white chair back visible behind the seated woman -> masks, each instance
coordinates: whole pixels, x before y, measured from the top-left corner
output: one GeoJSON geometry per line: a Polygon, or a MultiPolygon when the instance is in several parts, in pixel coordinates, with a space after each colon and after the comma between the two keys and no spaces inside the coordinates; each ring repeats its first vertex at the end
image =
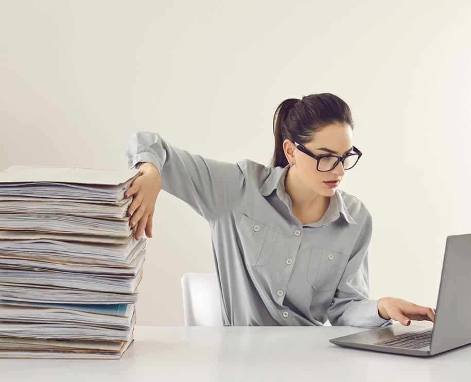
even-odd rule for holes
{"type": "Polygon", "coordinates": [[[182,294],[185,326],[223,326],[216,273],[185,273],[182,294]]]}

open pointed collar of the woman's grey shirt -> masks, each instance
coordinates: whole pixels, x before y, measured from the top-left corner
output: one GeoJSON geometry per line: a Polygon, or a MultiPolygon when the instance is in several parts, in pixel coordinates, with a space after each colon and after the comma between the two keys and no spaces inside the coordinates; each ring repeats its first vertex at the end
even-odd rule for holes
{"type": "MultiPolygon", "coordinates": [[[[285,190],[285,177],[286,177],[286,173],[288,172],[288,168],[289,168],[289,165],[286,165],[285,167],[281,167],[281,166],[272,167],[270,169],[271,171],[268,177],[265,179],[263,184],[259,187],[259,191],[262,195],[268,196],[273,192],[273,190],[276,189],[276,193],[278,197],[280,197],[280,199],[282,200],[284,199],[285,203],[291,206],[291,200],[285,190]]],[[[340,214],[348,223],[358,225],[357,222],[353,219],[352,215],[350,215],[350,212],[348,212],[348,209],[345,205],[345,202],[339,190],[336,189],[334,196],[330,200],[330,205],[324,217],[318,222],[315,222],[312,224],[305,224],[305,225],[312,225],[313,227],[318,227],[319,225],[323,225],[326,223],[324,221],[324,218],[330,221],[334,221],[340,217],[340,214]]]]}

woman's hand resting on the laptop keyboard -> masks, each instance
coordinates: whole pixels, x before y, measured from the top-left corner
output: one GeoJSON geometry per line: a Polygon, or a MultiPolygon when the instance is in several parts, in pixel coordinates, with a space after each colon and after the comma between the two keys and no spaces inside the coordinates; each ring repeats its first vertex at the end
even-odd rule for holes
{"type": "Polygon", "coordinates": [[[378,314],[385,320],[393,319],[405,326],[410,325],[410,320],[435,321],[437,309],[414,304],[395,297],[382,297],[378,302],[378,314]]]}

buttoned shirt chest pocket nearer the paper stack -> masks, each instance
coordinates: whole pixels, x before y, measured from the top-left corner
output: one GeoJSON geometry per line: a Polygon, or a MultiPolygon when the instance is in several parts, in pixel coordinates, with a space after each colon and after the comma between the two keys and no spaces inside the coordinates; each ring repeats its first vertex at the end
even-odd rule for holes
{"type": "Polygon", "coordinates": [[[245,214],[237,223],[242,251],[252,266],[268,264],[275,250],[278,231],[245,214]]]}

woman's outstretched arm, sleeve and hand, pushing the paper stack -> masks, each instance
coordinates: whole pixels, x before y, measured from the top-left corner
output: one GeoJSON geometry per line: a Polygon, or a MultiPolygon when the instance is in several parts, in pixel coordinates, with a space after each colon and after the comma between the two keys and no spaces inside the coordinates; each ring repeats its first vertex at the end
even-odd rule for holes
{"type": "Polygon", "coordinates": [[[151,237],[154,204],[161,188],[189,204],[210,222],[232,209],[242,198],[246,160],[228,163],[204,158],[172,146],[160,134],[150,131],[132,133],[126,155],[128,168],[139,168],[143,173],[127,190],[128,196],[134,195],[128,215],[137,214],[131,217],[130,223],[139,221],[136,237],[142,234],[144,227],[146,235],[151,237]]]}

